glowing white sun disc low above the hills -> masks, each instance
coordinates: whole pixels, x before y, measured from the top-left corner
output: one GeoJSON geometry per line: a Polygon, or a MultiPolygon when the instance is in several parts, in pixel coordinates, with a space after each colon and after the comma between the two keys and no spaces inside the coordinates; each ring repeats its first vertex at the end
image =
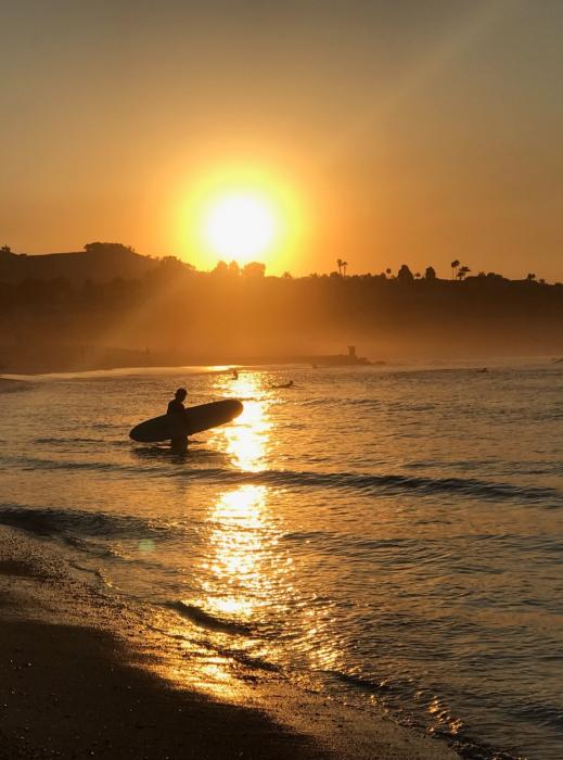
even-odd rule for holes
{"type": "Polygon", "coordinates": [[[225,194],[210,202],[203,237],[219,256],[249,262],[276,242],[279,219],[266,197],[249,192],[225,194]]]}

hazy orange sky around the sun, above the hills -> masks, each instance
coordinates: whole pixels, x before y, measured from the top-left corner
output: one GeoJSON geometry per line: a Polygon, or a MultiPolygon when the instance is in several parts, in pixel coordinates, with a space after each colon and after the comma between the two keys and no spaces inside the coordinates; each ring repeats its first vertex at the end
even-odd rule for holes
{"type": "Polygon", "coordinates": [[[561,281],[562,35],[561,0],[5,3],[0,245],[207,269],[205,193],[252,186],[270,274],[561,281]]]}

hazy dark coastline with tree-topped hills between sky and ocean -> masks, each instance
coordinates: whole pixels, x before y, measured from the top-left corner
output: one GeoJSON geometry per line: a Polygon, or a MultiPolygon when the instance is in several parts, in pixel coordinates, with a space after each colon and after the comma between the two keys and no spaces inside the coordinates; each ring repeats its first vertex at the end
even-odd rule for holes
{"type": "MultiPolygon", "coordinates": [[[[346,265],[346,266],[345,266],[346,265]]],[[[394,275],[266,276],[253,262],[197,271],[118,243],[27,256],[0,249],[4,372],[182,364],[357,366],[358,342],[382,362],[563,353],[563,284],[509,280],[451,263],[440,279],[394,275]],[[123,347],[121,347],[123,346],[123,347]]],[[[485,364],[485,362],[483,363],[485,364]]]]}

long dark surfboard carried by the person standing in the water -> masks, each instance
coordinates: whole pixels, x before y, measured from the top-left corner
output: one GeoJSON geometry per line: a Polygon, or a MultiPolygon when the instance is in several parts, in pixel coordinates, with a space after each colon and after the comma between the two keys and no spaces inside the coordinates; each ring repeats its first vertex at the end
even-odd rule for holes
{"type": "Polygon", "coordinates": [[[231,422],[243,410],[240,401],[227,398],[212,404],[190,406],[185,409],[185,420],[175,415],[161,415],[136,425],[129,438],[138,443],[158,443],[177,435],[194,435],[219,425],[231,422]]]}

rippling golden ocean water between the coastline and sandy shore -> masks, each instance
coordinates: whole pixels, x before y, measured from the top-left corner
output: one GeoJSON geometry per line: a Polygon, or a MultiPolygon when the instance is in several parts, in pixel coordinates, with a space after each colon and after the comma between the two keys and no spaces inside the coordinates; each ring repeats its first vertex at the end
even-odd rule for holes
{"type": "Polygon", "coordinates": [[[563,365],[91,372],[0,394],[0,522],[229,662],[445,736],[563,757],[563,365]],[[271,385],[292,378],[293,389],[271,385]],[[128,440],[244,403],[185,457],[128,440]]]}

